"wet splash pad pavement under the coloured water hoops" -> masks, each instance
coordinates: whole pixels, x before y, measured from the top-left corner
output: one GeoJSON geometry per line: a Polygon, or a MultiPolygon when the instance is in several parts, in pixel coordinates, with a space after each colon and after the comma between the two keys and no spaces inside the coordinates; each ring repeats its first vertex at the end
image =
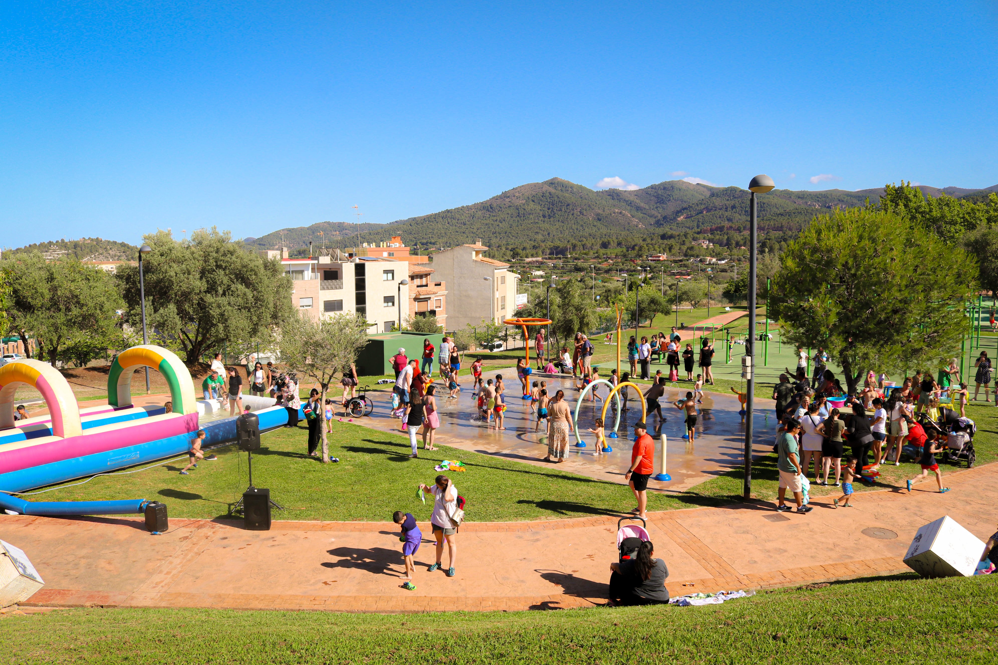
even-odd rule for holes
{"type": "MultiPolygon", "coordinates": [[[[506,430],[496,431],[478,419],[476,398],[471,394],[469,378],[464,382],[464,390],[456,399],[448,399],[449,391],[443,390],[442,386],[437,388],[440,428],[434,435],[434,441],[476,453],[550,466],[551,463],[542,462],[547,455],[547,446],[540,443],[541,437],[544,436],[544,425],[541,424],[540,431],[535,431],[537,416],[531,412],[530,401],[521,399],[520,383],[516,380],[515,372],[499,371],[498,374],[504,376],[506,384],[504,395],[506,430]],[[512,381],[509,381],[510,378],[512,381]]],[[[495,374],[485,376],[495,378],[495,374]]],[[[575,387],[576,381],[571,378],[558,379],[538,375],[534,375],[534,379],[547,381],[549,394],[564,390],[565,399],[571,405],[573,413],[576,413],[579,399],[579,391],[575,387]]],[[[566,461],[560,465],[561,468],[599,480],[625,483],[624,473],[631,464],[634,438],[631,426],[641,419],[641,403],[636,399],[636,391],[628,390],[631,394],[627,405],[628,411],[621,415],[617,430],[620,438],[608,439],[613,452],[600,454],[596,450],[596,436],[588,430],[599,417],[603,403],[600,400],[594,403],[587,395],[577,414],[582,441],[586,447],[575,446],[576,442],[572,439],[573,445],[570,446],[566,461]],[[625,433],[631,441],[625,440],[625,433]]],[[[745,426],[739,415],[741,404],[734,394],[706,393],[703,404],[698,405],[700,417],[694,443],[691,444],[683,439],[683,435],[686,434],[685,416],[673,403],[692,390],[693,384],[678,383],[668,386],[665,397],[659,400],[665,422],[660,425],[656,416],[649,417],[649,434],[656,438],[656,473],[660,471],[662,455],[660,437],[665,435],[666,471],[672,477],[671,482],[652,481],[649,483],[650,488],[673,492],[686,490],[743,464],[745,426]]],[[[609,388],[601,385],[597,393],[599,397],[605,399],[609,388]]],[[[387,390],[380,393],[371,392],[368,393],[368,397],[374,403],[374,412],[370,418],[355,419],[354,422],[401,434],[399,421],[390,417],[391,393],[387,390]]],[[[753,436],[752,452],[758,456],[771,452],[775,416],[771,401],[756,399],[755,402],[756,406],[761,408],[754,409],[755,436],[753,436]]],[[[611,408],[607,411],[609,427],[614,423],[614,406],[612,402],[611,408]]],[[[421,449],[421,438],[419,441],[421,449]]]]}

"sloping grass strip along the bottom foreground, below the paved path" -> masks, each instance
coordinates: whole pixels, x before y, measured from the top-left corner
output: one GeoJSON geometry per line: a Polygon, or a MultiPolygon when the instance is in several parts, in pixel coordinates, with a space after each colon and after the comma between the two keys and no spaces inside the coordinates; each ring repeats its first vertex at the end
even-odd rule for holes
{"type": "Polygon", "coordinates": [[[0,663],[994,663],[998,575],[898,575],[705,607],[408,615],[69,609],[0,663]]]}

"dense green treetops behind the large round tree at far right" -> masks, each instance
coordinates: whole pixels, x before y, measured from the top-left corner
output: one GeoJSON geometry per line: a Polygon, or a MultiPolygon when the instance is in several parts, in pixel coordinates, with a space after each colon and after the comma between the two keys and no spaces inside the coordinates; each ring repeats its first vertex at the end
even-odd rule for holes
{"type": "Polygon", "coordinates": [[[998,195],[995,193],[988,196],[987,202],[978,203],[947,194],[925,195],[904,180],[901,184],[884,185],[880,200],[869,207],[904,217],[946,244],[959,242],[967,231],[998,223],[998,195]]]}

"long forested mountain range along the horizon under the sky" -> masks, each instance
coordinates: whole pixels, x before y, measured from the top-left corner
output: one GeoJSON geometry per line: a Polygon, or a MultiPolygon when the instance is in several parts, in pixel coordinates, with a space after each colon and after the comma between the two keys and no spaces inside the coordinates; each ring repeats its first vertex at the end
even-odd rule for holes
{"type": "MultiPolygon", "coordinates": [[[[923,193],[962,197],[998,191],[918,185],[923,193]]],[[[760,233],[792,235],[815,213],[875,202],[883,187],[846,191],[773,189],[758,197],[760,233]]],[[[692,233],[742,234],[749,224],[749,191],[685,180],[667,180],[633,190],[594,190],[559,177],[530,182],[487,200],[387,224],[319,222],[283,228],[245,242],[260,248],[352,247],[391,235],[421,248],[449,247],[475,238],[494,248],[534,254],[572,249],[630,246],[646,239],[692,233]],[[321,232],[321,235],[319,234],[321,232]],[[358,240],[359,234],[359,240],[358,240]]]]}

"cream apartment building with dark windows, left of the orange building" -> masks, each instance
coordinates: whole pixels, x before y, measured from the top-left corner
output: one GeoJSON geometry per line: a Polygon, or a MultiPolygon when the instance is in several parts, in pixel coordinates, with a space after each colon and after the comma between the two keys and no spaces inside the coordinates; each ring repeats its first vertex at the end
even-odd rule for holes
{"type": "Polygon", "coordinates": [[[280,259],[284,273],[293,282],[292,304],[302,316],[315,321],[341,312],[356,312],[367,319],[369,333],[391,332],[398,328],[399,311],[404,322],[406,315],[420,306],[415,300],[418,289],[412,288],[411,280],[401,284],[413,265],[404,259],[347,258],[341,253],[289,258],[286,250],[263,250],[260,254],[280,259]]]}

